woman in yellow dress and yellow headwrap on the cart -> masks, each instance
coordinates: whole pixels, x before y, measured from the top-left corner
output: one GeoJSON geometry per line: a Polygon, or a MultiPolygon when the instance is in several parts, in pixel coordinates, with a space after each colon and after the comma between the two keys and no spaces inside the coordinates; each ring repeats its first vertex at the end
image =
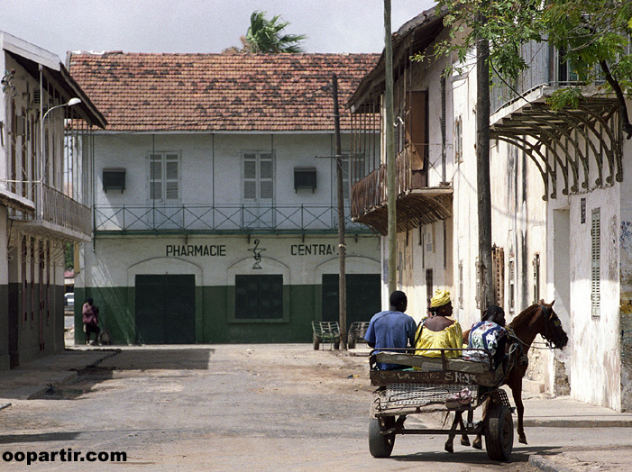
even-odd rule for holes
{"type": "MultiPolygon", "coordinates": [[[[463,331],[459,322],[450,320],[453,306],[450,292],[437,289],[430,300],[431,316],[422,320],[417,328],[415,347],[417,349],[460,349],[463,347],[463,331]]],[[[440,350],[417,350],[418,356],[440,358],[440,350]]],[[[458,358],[460,350],[446,350],[446,358],[458,358]]]]}

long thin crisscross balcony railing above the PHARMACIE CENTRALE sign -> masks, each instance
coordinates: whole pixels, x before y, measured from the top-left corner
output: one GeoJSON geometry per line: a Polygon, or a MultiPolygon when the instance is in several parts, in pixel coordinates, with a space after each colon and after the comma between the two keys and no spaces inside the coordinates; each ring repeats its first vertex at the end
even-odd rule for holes
{"type": "MultiPolygon", "coordinates": [[[[369,231],[352,222],[347,207],[345,230],[369,231]]],[[[95,231],[320,232],[337,231],[332,205],[96,205],[95,231]]]]}

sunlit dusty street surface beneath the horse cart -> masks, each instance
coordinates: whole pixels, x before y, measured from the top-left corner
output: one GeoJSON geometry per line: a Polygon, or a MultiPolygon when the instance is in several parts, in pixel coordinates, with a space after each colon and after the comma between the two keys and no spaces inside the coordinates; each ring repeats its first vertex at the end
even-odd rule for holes
{"type": "MultiPolygon", "coordinates": [[[[366,358],[307,344],[86,349],[67,351],[60,360],[80,368],[79,375],[48,394],[32,390],[40,399],[24,399],[33,394],[19,371],[3,384],[0,404],[11,405],[0,410],[0,452],[124,451],[127,462],[58,457],[27,466],[24,459],[3,463],[3,470],[632,470],[632,429],[569,428],[544,418],[559,419],[569,402],[537,398],[527,402],[529,445],[516,441],[510,464],[491,462],[458,440],[448,454],[444,436],[398,436],[391,458],[371,458],[366,358]],[[547,421],[551,426],[538,426],[547,421]]],[[[30,377],[45,376],[41,369],[30,377]]],[[[600,417],[608,412],[599,410],[600,417]]],[[[582,413],[594,426],[591,414],[582,413]]],[[[601,426],[618,418],[612,412],[601,426]]],[[[434,426],[437,418],[422,420],[411,418],[409,426],[434,426]]]]}

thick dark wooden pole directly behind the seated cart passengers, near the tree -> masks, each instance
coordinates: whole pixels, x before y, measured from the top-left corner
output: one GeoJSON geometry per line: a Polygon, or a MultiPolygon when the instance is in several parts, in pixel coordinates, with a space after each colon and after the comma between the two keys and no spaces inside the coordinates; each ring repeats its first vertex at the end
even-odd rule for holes
{"type": "MultiPolygon", "coordinates": [[[[485,18],[479,14],[479,22],[485,18]]],[[[476,191],[479,195],[479,274],[481,313],[493,303],[491,272],[491,190],[490,190],[490,43],[476,41],[476,191]]]]}

